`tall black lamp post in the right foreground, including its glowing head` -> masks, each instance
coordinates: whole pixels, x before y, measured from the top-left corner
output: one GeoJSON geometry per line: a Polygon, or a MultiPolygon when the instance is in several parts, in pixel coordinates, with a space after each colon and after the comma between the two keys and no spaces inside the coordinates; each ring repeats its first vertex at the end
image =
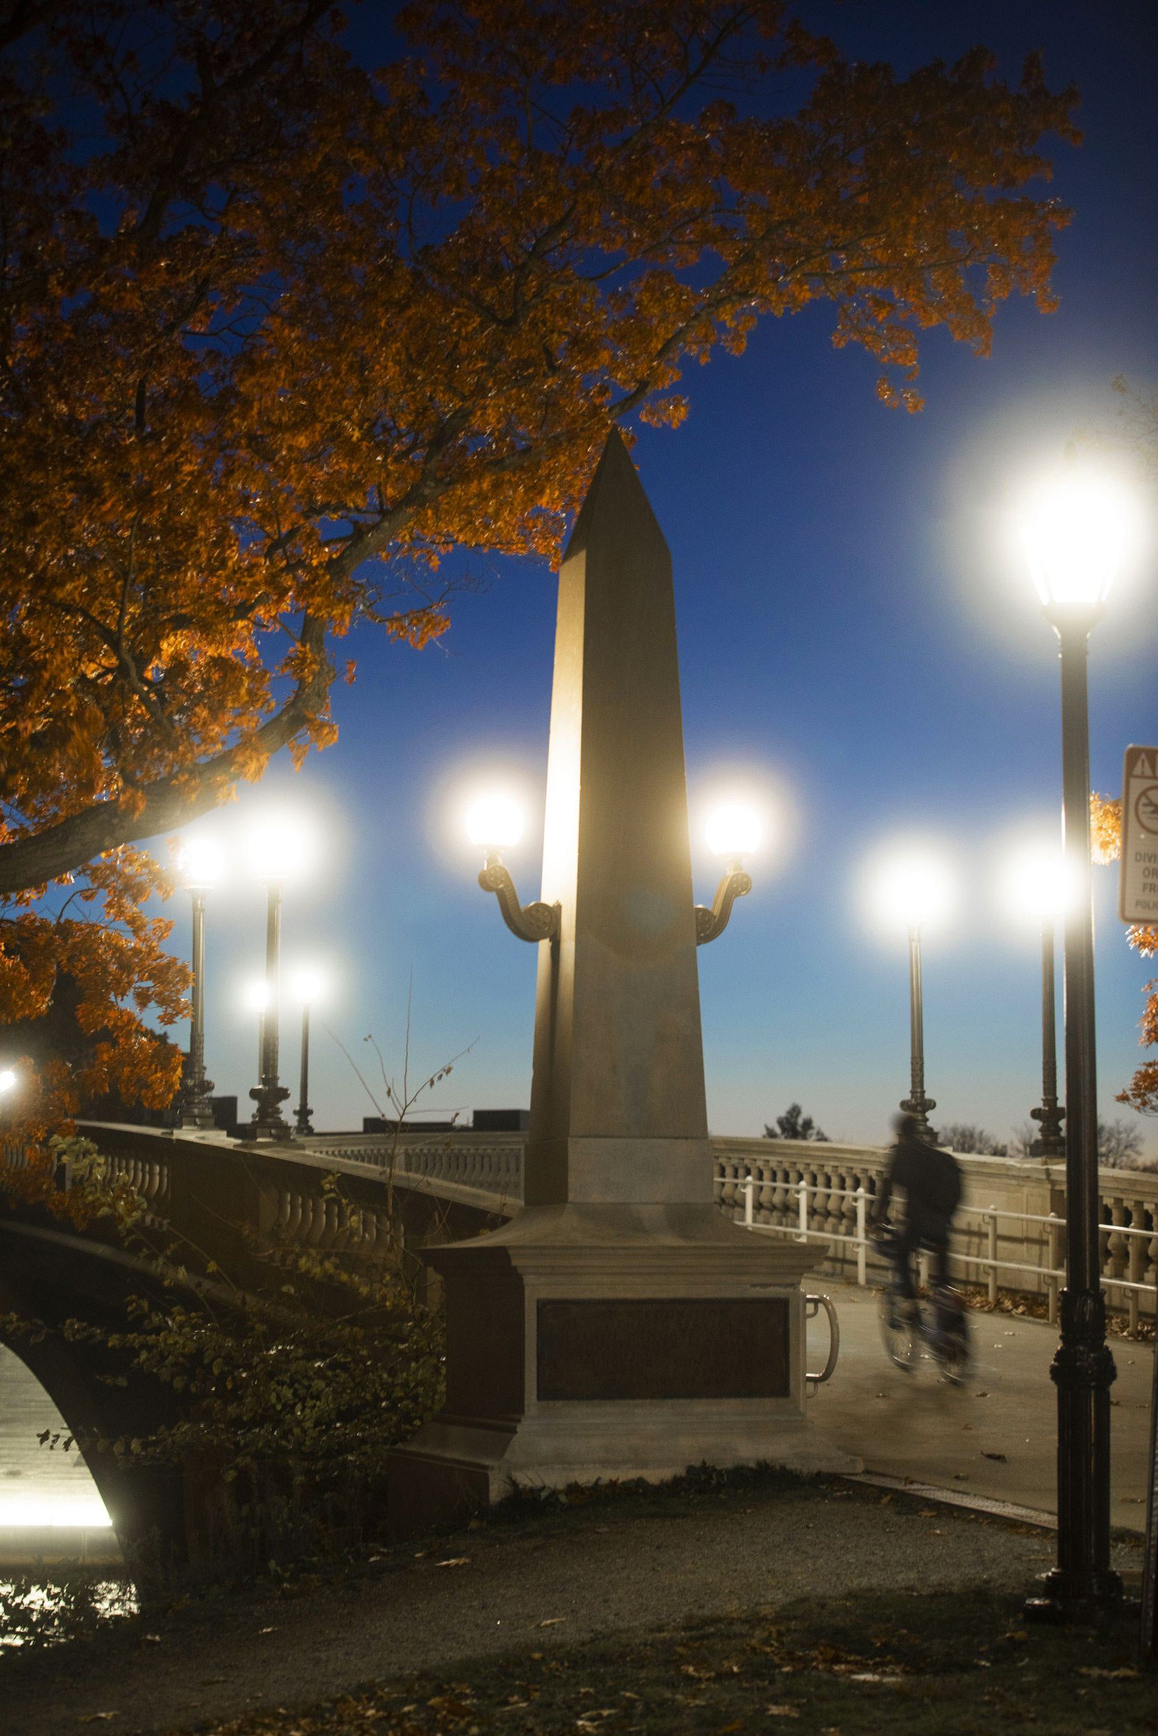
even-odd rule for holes
{"type": "Polygon", "coordinates": [[[1066,878],[1066,1288],[1057,1387],[1057,1566],[1036,1614],[1092,1618],[1122,1601],[1109,1568],[1109,1387],[1099,1266],[1097,1055],[1090,885],[1090,736],[1087,644],[1122,552],[1113,502],[1073,467],[1035,502],[1023,526],[1033,583],[1061,641],[1061,769],[1066,878]]]}

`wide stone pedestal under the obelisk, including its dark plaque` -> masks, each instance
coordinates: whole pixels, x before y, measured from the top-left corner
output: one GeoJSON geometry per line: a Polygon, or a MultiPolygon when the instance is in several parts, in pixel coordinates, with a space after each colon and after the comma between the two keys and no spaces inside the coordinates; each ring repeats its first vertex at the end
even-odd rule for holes
{"type": "Polygon", "coordinates": [[[424,1259],[446,1286],[446,1410],[389,1457],[399,1535],[516,1488],[705,1460],[863,1469],[806,1415],[816,1248],[712,1205],[557,1205],[424,1259]]]}

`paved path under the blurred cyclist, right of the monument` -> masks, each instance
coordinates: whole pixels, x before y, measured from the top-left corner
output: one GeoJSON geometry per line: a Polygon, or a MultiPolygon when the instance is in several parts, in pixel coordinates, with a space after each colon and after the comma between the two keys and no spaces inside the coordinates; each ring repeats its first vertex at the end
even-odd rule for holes
{"type": "MultiPolygon", "coordinates": [[[[964,1387],[951,1387],[929,1356],[911,1375],[894,1368],[880,1342],[875,1292],[821,1274],[804,1285],[830,1295],[840,1319],[840,1361],[809,1401],[809,1415],[830,1441],[859,1453],[865,1470],[1057,1510],[1057,1389],[1049,1377],[1056,1326],[970,1311],[972,1373],[964,1387]]],[[[809,1368],[823,1368],[826,1349],[821,1312],[809,1323],[809,1368]]],[[[1130,1338],[1111,1338],[1111,1349],[1118,1364],[1109,1413],[1111,1517],[1142,1529],[1155,1352],[1130,1338]]]]}

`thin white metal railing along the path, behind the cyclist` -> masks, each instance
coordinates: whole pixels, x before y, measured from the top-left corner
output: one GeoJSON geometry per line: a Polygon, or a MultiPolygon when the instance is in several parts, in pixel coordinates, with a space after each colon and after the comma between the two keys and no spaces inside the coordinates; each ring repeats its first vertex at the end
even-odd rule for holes
{"type": "MultiPolygon", "coordinates": [[[[759,1231],[766,1236],[788,1236],[792,1241],[816,1241],[816,1243],[839,1243],[845,1248],[856,1250],[856,1281],[865,1286],[868,1281],[868,1200],[870,1194],[861,1184],[858,1187],[833,1187],[826,1182],[807,1182],[804,1177],[799,1182],[790,1182],[788,1191],[795,1196],[795,1222],[793,1224],[757,1224],[755,1222],[755,1191],[760,1186],[760,1179],[748,1174],[733,1179],[736,1194],[743,1196],[743,1224],[747,1229],[759,1231]],[[818,1196],[823,1196],[828,1207],[833,1200],[851,1200],[852,1210],[856,1213],[856,1229],[851,1233],[832,1231],[832,1229],[813,1229],[809,1227],[809,1200],[816,1203],[818,1196]]],[[[964,1205],[958,1207],[958,1213],[964,1217],[976,1217],[984,1227],[984,1253],[962,1252],[953,1248],[950,1240],[950,1269],[957,1264],[958,1267],[979,1267],[988,1274],[988,1292],[990,1302],[997,1300],[998,1290],[998,1272],[1024,1272],[1031,1274],[1035,1279],[1045,1279],[1049,1293],[1049,1318],[1057,1318],[1057,1290],[1066,1279],[1064,1266],[1059,1264],[1061,1250],[1064,1248],[1066,1220],[1056,1212],[1042,1215],[1038,1212],[1007,1212],[998,1207],[976,1207],[964,1205]],[[1024,1260],[1009,1260],[1000,1257],[998,1250],[998,1220],[1009,1219],[1017,1224],[1038,1224],[1043,1227],[1049,1246],[1049,1266],[1035,1266],[1024,1260]]],[[[960,1231],[957,1233],[960,1236],[960,1231]]],[[[1155,1262],[1158,1253],[1158,1226],[1155,1229],[1144,1229],[1132,1224],[1122,1222],[1102,1222],[1099,1226],[1099,1243],[1102,1264],[1109,1253],[1111,1243],[1120,1238],[1115,1255],[1122,1255],[1125,1243],[1127,1269],[1128,1278],[1118,1276],[1113,1271],[1104,1271],[1101,1281],[1108,1290],[1125,1292],[1125,1300],[1130,1314],[1130,1332],[1137,1332],[1139,1325],[1139,1300],[1142,1295],[1151,1295],[1158,1283],[1158,1264],[1155,1264],[1155,1276],[1146,1276],[1148,1264],[1155,1262]]],[[[1028,1236],[1017,1238],[1023,1243],[1028,1236]]],[[[920,1253],[922,1278],[929,1279],[929,1255],[920,1253]]],[[[965,1271],[965,1276],[969,1272],[965,1271]]]]}

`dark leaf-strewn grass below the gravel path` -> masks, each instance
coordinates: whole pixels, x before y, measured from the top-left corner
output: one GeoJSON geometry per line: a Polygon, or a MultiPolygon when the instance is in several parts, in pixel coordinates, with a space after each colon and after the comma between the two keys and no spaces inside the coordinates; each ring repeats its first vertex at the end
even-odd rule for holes
{"type": "Polygon", "coordinates": [[[1014,1597],[863,1594],[519,1651],[410,1675],[319,1706],[252,1712],[205,1736],[1050,1736],[1158,1729],[1137,1618],[1099,1630],[1026,1625],[1014,1597]]]}

